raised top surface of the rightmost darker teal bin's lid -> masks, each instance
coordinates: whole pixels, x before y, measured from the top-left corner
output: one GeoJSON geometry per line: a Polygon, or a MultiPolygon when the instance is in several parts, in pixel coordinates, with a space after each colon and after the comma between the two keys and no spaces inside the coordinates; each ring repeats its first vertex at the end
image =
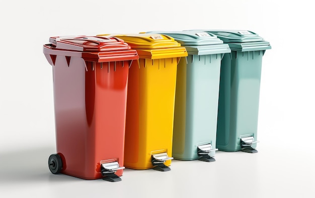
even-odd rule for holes
{"type": "Polygon", "coordinates": [[[264,39],[255,32],[248,30],[203,30],[207,33],[216,35],[224,43],[245,43],[245,42],[259,42],[264,39]]]}

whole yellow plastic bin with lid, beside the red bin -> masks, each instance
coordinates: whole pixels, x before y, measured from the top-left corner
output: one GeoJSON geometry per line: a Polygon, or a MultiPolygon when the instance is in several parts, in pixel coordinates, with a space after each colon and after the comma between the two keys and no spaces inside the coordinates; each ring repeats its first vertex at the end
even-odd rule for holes
{"type": "Polygon", "coordinates": [[[186,48],[161,34],[111,36],[139,55],[129,69],[124,166],[171,170],[177,64],[186,48]]]}

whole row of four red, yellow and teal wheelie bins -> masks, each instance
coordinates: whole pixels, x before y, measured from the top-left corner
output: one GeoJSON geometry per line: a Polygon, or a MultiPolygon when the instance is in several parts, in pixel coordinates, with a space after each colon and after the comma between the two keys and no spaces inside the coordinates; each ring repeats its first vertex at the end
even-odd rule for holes
{"type": "Polygon", "coordinates": [[[256,152],[262,56],[250,31],[51,37],[57,153],[49,169],[119,181],[125,167],[170,170],[256,152]]]}

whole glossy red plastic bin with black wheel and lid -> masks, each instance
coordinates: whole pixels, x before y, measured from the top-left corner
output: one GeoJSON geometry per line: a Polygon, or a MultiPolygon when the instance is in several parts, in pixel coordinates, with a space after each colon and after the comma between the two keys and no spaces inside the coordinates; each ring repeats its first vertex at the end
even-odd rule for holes
{"type": "Polygon", "coordinates": [[[57,154],[52,173],[120,181],[128,67],[136,50],[115,37],[50,37],[57,154]]]}

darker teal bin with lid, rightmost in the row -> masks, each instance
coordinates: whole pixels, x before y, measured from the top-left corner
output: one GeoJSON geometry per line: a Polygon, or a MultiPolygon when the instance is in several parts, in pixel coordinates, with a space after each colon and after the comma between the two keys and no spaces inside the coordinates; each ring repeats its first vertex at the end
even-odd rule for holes
{"type": "Polygon", "coordinates": [[[231,49],[221,62],[216,146],[221,151],[256,153],[262,58],[270,43],[240,30],[203,30],[231,49]]]}

